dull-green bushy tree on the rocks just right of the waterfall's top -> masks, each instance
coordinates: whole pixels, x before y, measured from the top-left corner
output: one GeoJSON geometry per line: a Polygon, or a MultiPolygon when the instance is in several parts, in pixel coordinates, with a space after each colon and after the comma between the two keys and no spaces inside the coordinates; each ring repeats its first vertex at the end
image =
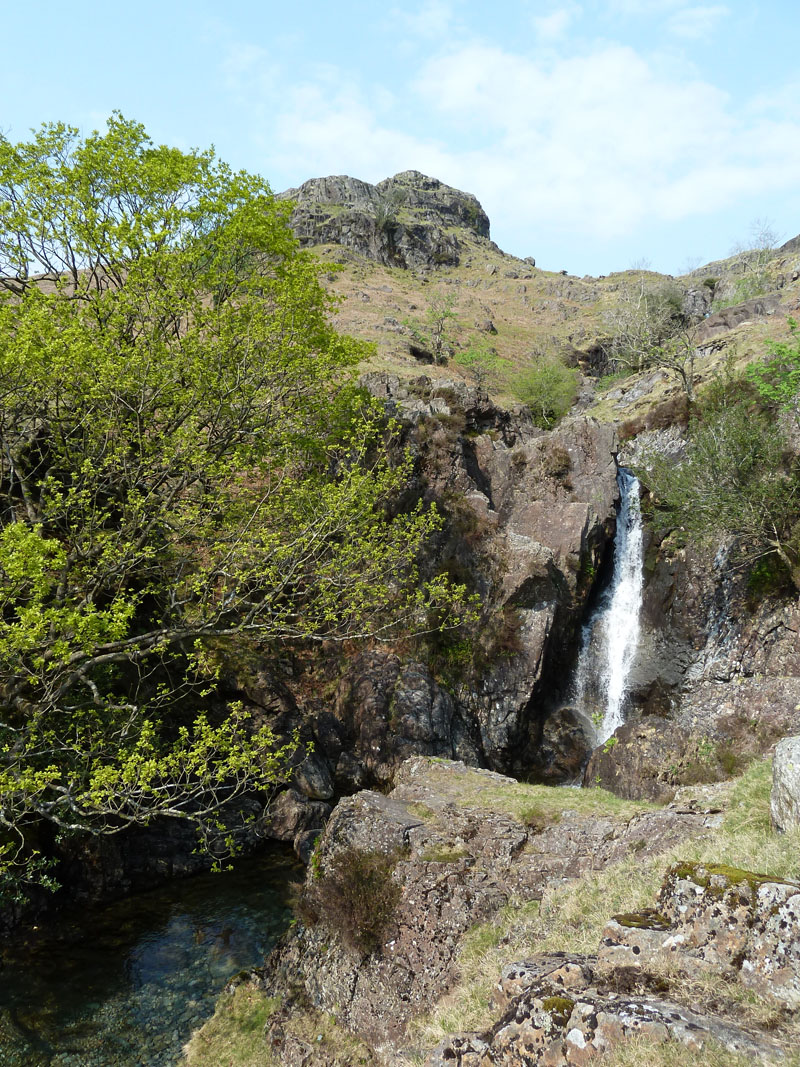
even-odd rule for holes
{"type": "Polygon", "coordinates": [[[654,456],[641,476],[662,526],[700,542],[736,539],[750,564],[777,556],[800,588],[800,469],[781,426],[757,401],[746,380],[718,381],[698,407],[684,462],[654,456]]]}

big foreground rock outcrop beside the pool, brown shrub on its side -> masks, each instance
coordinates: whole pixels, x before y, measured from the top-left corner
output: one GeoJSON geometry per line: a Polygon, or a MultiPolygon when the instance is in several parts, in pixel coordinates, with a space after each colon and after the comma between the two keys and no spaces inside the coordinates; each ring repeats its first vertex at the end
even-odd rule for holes
{"type": "MultiPolygon", "coordinates": [[[[546,887],[598,870],[636,848],[641,855],[707,832],[704,812],[580,815],[519,810],[513,779],[448,761],[414,758],[388,795],[362,792],[339,802],[306,877],[305,917],[273,953],[270,992],[333,1012],[372,1044],[401,1040],[409,1021],[452,983],[464,933],[512,897],[537,899],[546,887]],[[370,908],[390,914],[366,946],[350,925],[341,883],[367,885],[358,856],[388,860],[369,880],[370,908]]],[[[353,908],[355,904],[352,905],[353,908]]],[[[362,929],[363,934],[363,929],[362,929]]]]}

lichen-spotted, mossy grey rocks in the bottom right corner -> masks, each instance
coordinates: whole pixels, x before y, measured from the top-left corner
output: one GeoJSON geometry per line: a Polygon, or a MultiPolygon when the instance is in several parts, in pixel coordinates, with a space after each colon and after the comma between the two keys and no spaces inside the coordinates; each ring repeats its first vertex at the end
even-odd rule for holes
{"type": "Polygon", "coordinates": [[[730,1014],[711,1014],[649,986],[663,988],[667,973],[715,972],[781,1007],[797,1006],[800,883],[686,863],[668,872],[658,903],[658,910],[613,917],[596,956],[553,953],[506,967],[492,996],[497,1022],[449,1037],[427,1067],[583,1065],[633,1036],[692,1050],[713,1041],[762,1063],[782,1060],[786,1045],[742,1026],[733,1004],[730,1014]]]}

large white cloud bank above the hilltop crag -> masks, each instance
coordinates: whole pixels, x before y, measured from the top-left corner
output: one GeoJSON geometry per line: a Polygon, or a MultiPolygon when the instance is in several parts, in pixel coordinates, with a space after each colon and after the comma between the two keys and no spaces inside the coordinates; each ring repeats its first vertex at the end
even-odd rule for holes
{"type": "Polygon", "coordinates": [[[266,53],[231,53],[265,171],[294,184],[341,173],[377,181],[413,168],[475,192],[503,233],[603,241],[796,188],[800,113],[781,110],[788,89],[734,103],[629,46],[526,54],[449,39],[394,93],[333,64],[277,85],[266,53]]]}

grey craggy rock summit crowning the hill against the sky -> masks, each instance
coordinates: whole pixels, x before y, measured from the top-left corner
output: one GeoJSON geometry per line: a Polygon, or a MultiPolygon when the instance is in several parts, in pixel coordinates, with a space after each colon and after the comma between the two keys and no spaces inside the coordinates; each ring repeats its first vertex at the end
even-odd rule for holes
{"type": "Polygon", "coordinates": [[[287,189],[291,226],[302,245],[340,244],[387,267],[459,264],[463,235],[489,238],[489,218],[471,193],[418,171],[377,186],[346,176],[311,178],[287,189]]]}

